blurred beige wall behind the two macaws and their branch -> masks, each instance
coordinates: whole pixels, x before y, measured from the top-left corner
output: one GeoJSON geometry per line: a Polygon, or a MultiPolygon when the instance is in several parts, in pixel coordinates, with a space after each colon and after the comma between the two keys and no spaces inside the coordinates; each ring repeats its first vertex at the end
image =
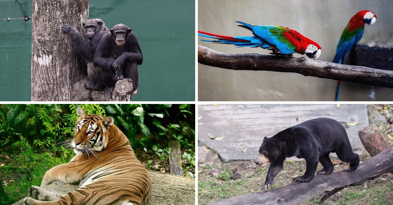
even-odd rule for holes
{"type": "MultiPolygon", "coordinates": [[[[322,47],[318,60],[331,62],[340,35],[358,11],[373,11],[359,43],[393,42],[393,0],[198,0],[198,30],[228,36],[250,36],[235,21],[290,27],[322,47]]],[[[201,42],[224,53],[261,53],[261,48],[201,42]]],[[[301,56],[294,54],[295,57],[301,56]]],[[[271,71],[233,71],[198,63],[199,101],[333,101],[335,80],[271,71]]],[[[340,101],[393,100],[393,89],[343,82],[340,101]],[[375,99],[369,97],[375,89],[375,99]]]]}

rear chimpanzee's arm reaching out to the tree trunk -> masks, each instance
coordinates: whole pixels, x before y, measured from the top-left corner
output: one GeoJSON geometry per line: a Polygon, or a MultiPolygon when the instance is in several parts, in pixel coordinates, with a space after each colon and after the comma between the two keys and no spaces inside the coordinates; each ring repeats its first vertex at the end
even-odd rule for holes
{"type": "MultiPolygon", "coordinates": [[[[82,34],[79,33],[79,31],[77,31],[74,27],[72,27],[68,24],[63,24],[61,26],[61,29],[65,33],[68,33],[70,35],[71,40],[72,40],[73,44],[75,45],[75,49],[84,58],[84,60],[86,60],[87,62],[92,62],[93,57],[94,57],[94,51],[95,51],[95,48],[96,48],[98,42],[95,44],[92,44],[86,38],[83,38],[82,34]]],[[[99,33],[97,33],[97,35],[98,34],[99,33]]],[[[99,39],[99,38],[95,38],[95,39],[99,39]]]]}

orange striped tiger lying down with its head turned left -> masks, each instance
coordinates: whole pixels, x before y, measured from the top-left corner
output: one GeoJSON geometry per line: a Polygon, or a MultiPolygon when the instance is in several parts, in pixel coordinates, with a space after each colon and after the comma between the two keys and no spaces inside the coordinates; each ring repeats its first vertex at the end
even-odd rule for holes
{"type": "Polygon", "coordinates": [[[76,156],[69,163],[48,170],[41,185],[28,188],[26,205],[146,205],[151,181],[146,168],[136,159],[127,137],[112,117],[79,116],[71,146],[76,156]],[[53,181],[79,183],[79,189],[55,194],[42,189],[53,181]]]}

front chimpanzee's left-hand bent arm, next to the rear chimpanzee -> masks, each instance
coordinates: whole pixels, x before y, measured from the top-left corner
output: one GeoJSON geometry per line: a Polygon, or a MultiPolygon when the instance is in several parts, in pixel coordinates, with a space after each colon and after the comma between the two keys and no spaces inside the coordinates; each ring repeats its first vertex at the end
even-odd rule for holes
{"type": "Polygon", "coordinates": [[[104,70],[110,70],[112,69],[112,65],[115,62],[114,59],[109,58],[109,51],[111,48],[112,44],[112,39],[110,33],[105,34],[102,38],[101,41],[99,42],[97,49],[95,50],[94,54],[94,66],[99,66],[104,70]]]}

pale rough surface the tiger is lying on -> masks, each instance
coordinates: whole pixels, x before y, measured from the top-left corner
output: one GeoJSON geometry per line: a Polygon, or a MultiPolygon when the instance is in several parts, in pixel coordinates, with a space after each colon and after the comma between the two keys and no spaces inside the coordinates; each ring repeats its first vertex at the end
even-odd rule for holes
{"type": "MultiPolygon", "coordinates": [[[[152,194],[147,205],[195,205],[195,179],[161,172],[148,172],[152,181],[152,194]]],[[[78,185],[68,185],[60,181],[55,181],[44,187],[46,190],[60,194],[77,188],[78,185]]],[[[24,193],[27,193],[27,190],[24,193]]],[[[24,203],[23,200],[19,200],[13,205],[24,205],[24,203]]]]}

